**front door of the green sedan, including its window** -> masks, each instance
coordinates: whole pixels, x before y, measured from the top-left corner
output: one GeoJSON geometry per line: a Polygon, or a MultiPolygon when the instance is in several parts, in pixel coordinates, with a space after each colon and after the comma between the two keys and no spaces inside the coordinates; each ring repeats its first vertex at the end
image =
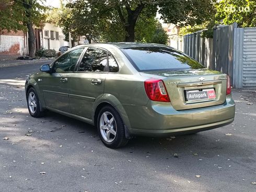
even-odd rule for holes
{"type": "Polygon", "coordinates": [[[40,87],[47,107],[71,113],[68,98],[69,81],[84,49],[85,47],[80,47],[65,53],[53,63],[51,73],[44,73],[41,77],[40,87]]]}

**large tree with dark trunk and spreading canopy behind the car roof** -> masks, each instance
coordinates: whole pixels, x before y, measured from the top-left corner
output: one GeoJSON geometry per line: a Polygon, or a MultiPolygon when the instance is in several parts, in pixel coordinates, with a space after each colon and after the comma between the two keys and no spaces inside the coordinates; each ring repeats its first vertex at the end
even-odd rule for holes
{"type": "MultiPolygon", "coordinates": [[[[77,0],[67,4],[71,9],[68,18],[63,19],[64,29],[79,35],[99,36],[99,31],[108,26],[122,30],[126,42],[135,40],[135,27],[141,15],[156,15],[158,7],[161,19],[183,25],[202,23],[211,16],[209,9],[213,0],[77,0]],[[116,25],[112,25],[112,23],[116,25]],[[109,25],[111,24],[111,25],[109,25]]],[[[117,34],[118,35],[118,34],[117,34]]]]}

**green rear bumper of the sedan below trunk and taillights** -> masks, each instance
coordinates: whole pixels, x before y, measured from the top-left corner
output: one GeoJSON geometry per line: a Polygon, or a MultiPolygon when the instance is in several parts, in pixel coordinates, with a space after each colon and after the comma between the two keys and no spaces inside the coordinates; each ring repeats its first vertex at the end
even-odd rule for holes
{"type": "Polygon", "coordinates": [[[224,104],[176,111],[170,103],[150,101],[145,106],[123,105],[131,135],[168,136],[222,127],[234,121],[235,102],[228,95],[224,104]]]}

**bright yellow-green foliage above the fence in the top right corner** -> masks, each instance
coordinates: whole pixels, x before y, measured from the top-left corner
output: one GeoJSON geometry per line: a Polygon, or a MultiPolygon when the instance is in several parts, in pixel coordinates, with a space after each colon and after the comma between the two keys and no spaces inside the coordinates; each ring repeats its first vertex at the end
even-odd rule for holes
{"type": "Polygon", "coordinates": [[[222,0],[216,9],[217,20],[222,20],[225,25],[237,22],[239,27],[256,27],[255,0],[222,0]]]}

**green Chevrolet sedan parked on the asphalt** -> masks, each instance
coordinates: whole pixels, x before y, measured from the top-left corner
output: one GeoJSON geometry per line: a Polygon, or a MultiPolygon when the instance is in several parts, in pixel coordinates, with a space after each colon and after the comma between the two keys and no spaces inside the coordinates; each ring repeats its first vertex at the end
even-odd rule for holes
{"type": "Polygon", "coordinates": [[[95,125],[110,148],[234,121],[229,77],[166,45],[79,45],[40,70],[26,80],[30,115],[51,110],[95,125]]]}

